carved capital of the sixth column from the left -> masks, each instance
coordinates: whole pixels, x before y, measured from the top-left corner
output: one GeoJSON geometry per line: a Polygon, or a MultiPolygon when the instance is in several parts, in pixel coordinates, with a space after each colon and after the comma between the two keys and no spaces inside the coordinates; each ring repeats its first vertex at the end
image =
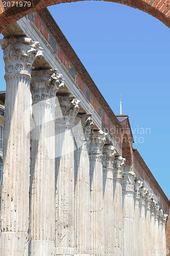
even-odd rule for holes
{"type": "Polygon", "coordinates": [[[116,151],[112,145],[105,145],[103,148],[103,167],[113,169],[114,156],[116,151]]]}

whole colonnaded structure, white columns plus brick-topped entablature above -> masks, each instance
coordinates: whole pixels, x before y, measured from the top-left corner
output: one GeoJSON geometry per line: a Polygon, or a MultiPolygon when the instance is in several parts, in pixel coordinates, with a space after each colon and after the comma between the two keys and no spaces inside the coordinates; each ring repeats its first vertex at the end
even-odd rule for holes
{"type": "Polygon", "coordinates": [[[168,255],[169,200],[129,117],[114,115],[47,9],[3,35],[1,255],[168,255]]]}

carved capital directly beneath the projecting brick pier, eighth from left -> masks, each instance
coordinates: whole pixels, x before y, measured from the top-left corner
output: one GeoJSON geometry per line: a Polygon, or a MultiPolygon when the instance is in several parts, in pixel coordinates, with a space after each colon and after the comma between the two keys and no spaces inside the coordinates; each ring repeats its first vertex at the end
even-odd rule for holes
{"type": "Polygon", "coordinates": [[[123,172],[122,189],[126,191],[134,191],[135,173],[123,172]]]}

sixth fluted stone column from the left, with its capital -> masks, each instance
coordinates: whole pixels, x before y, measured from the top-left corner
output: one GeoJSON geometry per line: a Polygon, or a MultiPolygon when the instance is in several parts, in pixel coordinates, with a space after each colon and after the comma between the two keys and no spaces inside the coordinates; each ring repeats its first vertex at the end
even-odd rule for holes
{"type": "Polygon", "coordinates": [[[104,204],[104,232],[105,255],[113,255],[113,161],[114,147],[105,145],[103,151],[103,204],[104,204]]]}

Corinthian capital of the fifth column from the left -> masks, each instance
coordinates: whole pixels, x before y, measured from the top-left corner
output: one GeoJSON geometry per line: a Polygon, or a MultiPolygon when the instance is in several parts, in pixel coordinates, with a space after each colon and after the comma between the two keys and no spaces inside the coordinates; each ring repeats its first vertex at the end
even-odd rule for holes
{"type": "Polygon", "coordinates": [[[103,146],[106,142],[107,133],[103,131],[93,130],[90,136],[89,154],[99,154],[103,153],[103,146]]]}

